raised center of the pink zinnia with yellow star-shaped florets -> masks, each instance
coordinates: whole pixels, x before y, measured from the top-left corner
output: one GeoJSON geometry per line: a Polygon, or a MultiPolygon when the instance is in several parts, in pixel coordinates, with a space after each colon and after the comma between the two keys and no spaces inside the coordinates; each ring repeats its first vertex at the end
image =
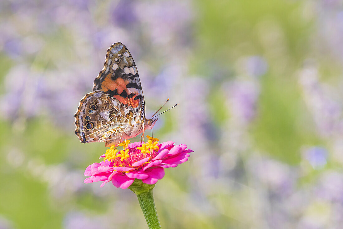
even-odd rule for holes
{"type": "Polygon", "coordinates": [[[154,158],[158,151],[158,138],[153,138],[149,135],[146,137],[149,140],[138,147],[129,147],[130,140],[123,141],[118,145],[123,147],[123,150],[120,151],[111,146],[105,152],[104,161],[112,161],[114,167],[132,167],[134,162],[147,157],[150,157],[150,159],[154,158]]]}

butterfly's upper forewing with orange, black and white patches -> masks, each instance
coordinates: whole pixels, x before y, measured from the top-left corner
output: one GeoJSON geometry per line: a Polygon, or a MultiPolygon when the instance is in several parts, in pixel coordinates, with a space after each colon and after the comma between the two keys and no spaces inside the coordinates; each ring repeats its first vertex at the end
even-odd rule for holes
{"type": "Polygon", "coordinates": [[[144,97],[138,71],[128,49],[116,42],[107,50],[103,70],[94,80],[93,91],[112,95],[144,119],[144,97]]]}

